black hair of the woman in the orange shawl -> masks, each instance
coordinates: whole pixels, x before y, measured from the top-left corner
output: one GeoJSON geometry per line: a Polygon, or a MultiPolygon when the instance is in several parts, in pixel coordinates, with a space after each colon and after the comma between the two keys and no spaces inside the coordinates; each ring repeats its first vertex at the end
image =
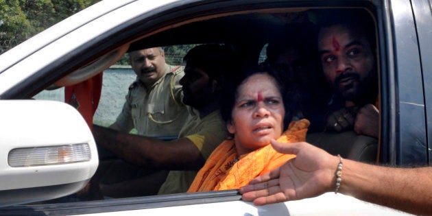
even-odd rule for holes
{"type": "Polygon", "coordinates": [[[235,98],[238,94],[238,88],[248,77],[257,74],[263,73],[268,74],[271,77],[274,77],[276,84],[278,85],[278,90],[280,91],[280,95],[282,95],[283,105],[285,108],[285,118],[283,122],[283,130],[286,130],[289,122],[292,121],[293,116],[296,115],[300,108],[300,96],[296,91],[296,88],[290,84],[289,80],[286,80],[284,76],[285,73],[281,73],[282,71],[276,71],[269,64],[260,64],[251,69],[245,70],[244,73],[237,75],[236,77],[231,77],[228,80],[225,88],[224,95],[221,98],[221,117],[227,123],[232,121],[232,109],[235,105],[235,98]]]}

